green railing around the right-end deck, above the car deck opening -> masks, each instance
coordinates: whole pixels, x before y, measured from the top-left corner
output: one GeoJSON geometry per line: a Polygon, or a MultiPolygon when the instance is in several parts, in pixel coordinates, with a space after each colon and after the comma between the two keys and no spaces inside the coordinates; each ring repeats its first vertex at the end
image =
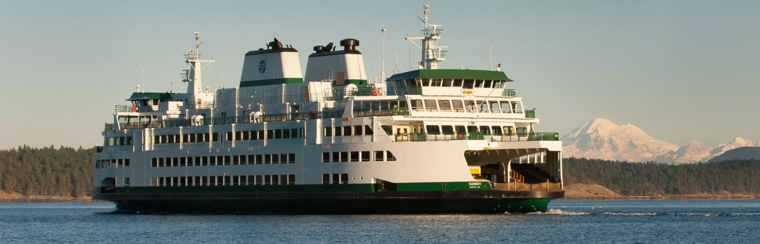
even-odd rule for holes
{"type": "Polygon", "coordinates": [[[393,134],[394,141],[462,141],[462,140],[486,140],[486,141],[559,141],[559,133],[513,133],[503,135],[490,135],[483,132],[433,132],[433,133],[407,133],[393,134]]]}

